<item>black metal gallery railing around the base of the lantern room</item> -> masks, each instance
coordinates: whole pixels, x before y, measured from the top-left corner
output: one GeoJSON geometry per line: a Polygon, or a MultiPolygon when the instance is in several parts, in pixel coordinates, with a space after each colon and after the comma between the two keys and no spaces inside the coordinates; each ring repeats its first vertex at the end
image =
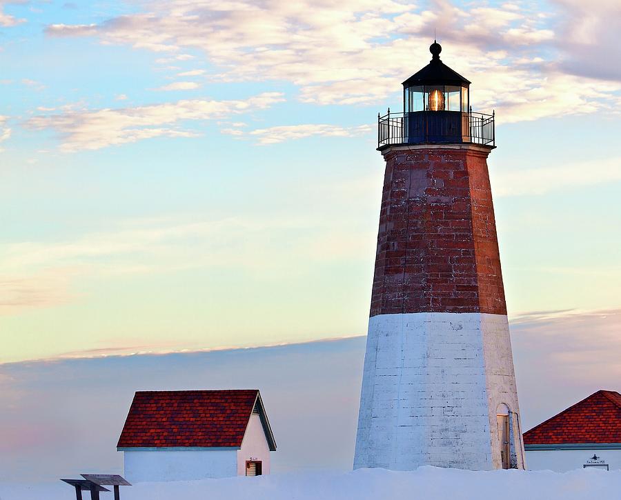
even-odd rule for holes
{"type": "Polygon", "coordinates": [[[377,148],[391,144],[471,143],[495,146],[495,114],[415,111],[377,115],[377,148]]]}

